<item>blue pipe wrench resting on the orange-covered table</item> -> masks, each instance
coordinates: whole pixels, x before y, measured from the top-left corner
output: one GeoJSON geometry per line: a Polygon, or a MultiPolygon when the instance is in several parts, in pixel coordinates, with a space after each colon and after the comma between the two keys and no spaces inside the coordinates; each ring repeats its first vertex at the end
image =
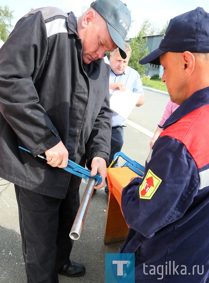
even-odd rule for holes
{"type": "MultiPolygon", "coordinates": [[[[122,153],[121,151],[118,151],[114,154],[113,157],[113,162],[116,161],[116,159],[121,156],[124,160],[126,160],[126,162],[124,162],[121,167],[127,166],[129,167],[130,170],[132,170],[133,172],[135,172],[137,175],[143,177],[144,176],[144,166],[142,166],[141,164],[139,164],[138,162],[136,162],[135,160],[132,160],[131,158],[129,158],[128,156],[126,156],[124,153],[122,153]]],[[[110,164],[110,166],[108,167],[108,169],[111,167],[111,165],[113,164],[113,162],[110,164]]],[[[107,169],[107,170],[108,170],[107,169]]]]}

